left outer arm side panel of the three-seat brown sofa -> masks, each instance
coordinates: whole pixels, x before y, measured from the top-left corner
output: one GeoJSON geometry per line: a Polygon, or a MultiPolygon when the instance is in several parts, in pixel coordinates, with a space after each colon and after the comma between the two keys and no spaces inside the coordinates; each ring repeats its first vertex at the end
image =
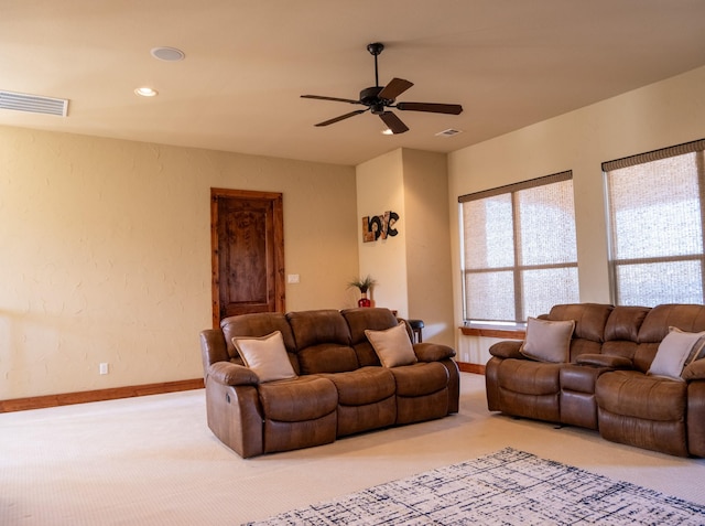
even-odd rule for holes
{"type": "Polygon", "coordinates": [[[243,459],[264,452],[257,387],[232,387],[208,379],[206,417],[213,433],[243,459]]]}

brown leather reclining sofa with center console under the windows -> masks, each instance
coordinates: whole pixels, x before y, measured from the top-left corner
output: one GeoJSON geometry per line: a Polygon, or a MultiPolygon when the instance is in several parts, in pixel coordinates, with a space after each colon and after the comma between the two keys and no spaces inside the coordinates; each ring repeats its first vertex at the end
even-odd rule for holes
{"type": "Polygon", "coordinates": [[[702,351],[691,355],[695,359],[680,376],[650,372],[670,328],[705,331],[705,307],[563,304],[540,319],[575,322],[570,357],[542,362],[522,354],[523,342],[494,344],[486,367],[490,410],[596,429],[607,440],[669,454],[705,457],[702,351]]]}

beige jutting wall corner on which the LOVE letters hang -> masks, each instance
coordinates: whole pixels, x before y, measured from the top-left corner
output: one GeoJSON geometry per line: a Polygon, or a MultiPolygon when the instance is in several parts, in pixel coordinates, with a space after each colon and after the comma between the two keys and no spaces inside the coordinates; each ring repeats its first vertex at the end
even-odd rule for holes
{"type": "MultiPolygon", "coordinates": [[[[362,243],[360,273],[373,299],[424,321],[424,340],[454,344],[446,155],[399,149],[357,167],[358,217],[399,214],[395,237],[362,243]]],[[[361,223],[360,223],[361,228],[361,223]]]]}

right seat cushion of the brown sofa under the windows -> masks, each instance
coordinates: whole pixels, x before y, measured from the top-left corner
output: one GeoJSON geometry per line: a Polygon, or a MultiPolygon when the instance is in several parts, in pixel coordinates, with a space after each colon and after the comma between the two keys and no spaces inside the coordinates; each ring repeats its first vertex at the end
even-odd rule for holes
{"type": "Polygon", "coordinates": [[[683,382],[614,371],[596,383],[597,405],[615,415],[654,421],[684,421],[687,386],[683,382]]]}

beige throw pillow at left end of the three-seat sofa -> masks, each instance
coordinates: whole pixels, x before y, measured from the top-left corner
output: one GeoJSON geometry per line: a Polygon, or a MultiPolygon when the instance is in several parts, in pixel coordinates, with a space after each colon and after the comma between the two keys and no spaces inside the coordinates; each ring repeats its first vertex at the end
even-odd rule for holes
{"type": "Polygon", "coordinates": [[[232,345],[240,353],[245,365],[259,376],[260,382],[296,377],[280,331],[260,337],[236,336],[232,345]]]}

